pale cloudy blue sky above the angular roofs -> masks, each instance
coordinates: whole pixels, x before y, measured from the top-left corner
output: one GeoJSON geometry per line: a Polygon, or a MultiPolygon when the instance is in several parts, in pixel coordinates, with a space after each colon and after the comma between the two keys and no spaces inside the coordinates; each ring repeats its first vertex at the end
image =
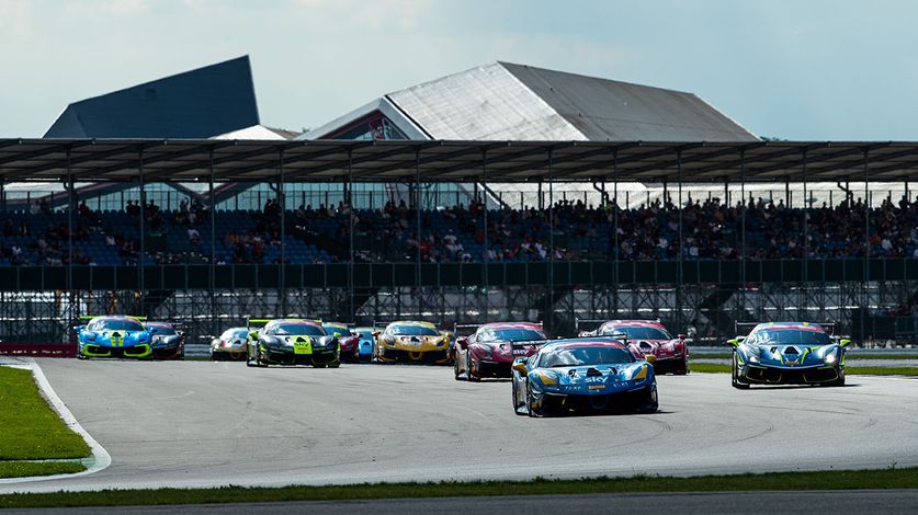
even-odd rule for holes
{"type": "Polygon", "coordinates": [[[690,91],[759,136],[918,140],[918,2],[0,0],[0,137],[70,102],[249,55],[302,130],[503,60],[690,91]]]}

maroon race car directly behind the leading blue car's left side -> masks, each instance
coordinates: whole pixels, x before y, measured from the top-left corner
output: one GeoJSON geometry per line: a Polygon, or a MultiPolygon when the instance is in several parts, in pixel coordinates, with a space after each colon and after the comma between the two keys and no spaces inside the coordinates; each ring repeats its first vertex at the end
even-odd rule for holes
{"type": "Polygon", "coordinates": [[[477,328],[468,336],[456,339],[453,359],[455,379],[478,381],[485,377],[510,377],[513,359],[531,356],[535,345],[524,342],[541,342],[548,339],[541,323],[495,322],[485,325],[456,324],[455,332],[477,328]]]}

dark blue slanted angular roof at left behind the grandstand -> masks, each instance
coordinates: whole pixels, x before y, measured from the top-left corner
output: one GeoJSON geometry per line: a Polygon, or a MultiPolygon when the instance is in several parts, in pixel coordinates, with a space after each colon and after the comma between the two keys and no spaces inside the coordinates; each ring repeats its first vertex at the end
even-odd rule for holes
{"type": "Polygon", "coordinates": [[[259,124],[249,57],[75,102],[45,138],[208,138],[259,124]]]}

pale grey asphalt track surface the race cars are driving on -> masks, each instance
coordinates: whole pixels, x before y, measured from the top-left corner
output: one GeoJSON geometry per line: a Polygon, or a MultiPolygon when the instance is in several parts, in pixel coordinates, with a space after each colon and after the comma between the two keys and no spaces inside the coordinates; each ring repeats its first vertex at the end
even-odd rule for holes
{"type": "Polygon", "coordinates": [[[666,376],[659,413],[534,420],[513,414],[508,382],[451,367],[38,363],[112,465],[0,493],[918,466],[907,378],[740,391],[724,374],[666,376]]]}

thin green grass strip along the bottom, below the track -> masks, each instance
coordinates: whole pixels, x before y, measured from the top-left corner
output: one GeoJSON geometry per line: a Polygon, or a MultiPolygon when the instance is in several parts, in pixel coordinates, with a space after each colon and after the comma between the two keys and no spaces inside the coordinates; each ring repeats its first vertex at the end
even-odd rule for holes
{"type": "Polygon", "coordinates": [[[859,471],[778,472],[672,478],[636,476],[577,480],[364,483],[337,487],[105,490],[0,496],[0,508],[262,503],[495,495],[582,495],[633,492],[722,492],[918,488],[918,468],[859,471]]]}

